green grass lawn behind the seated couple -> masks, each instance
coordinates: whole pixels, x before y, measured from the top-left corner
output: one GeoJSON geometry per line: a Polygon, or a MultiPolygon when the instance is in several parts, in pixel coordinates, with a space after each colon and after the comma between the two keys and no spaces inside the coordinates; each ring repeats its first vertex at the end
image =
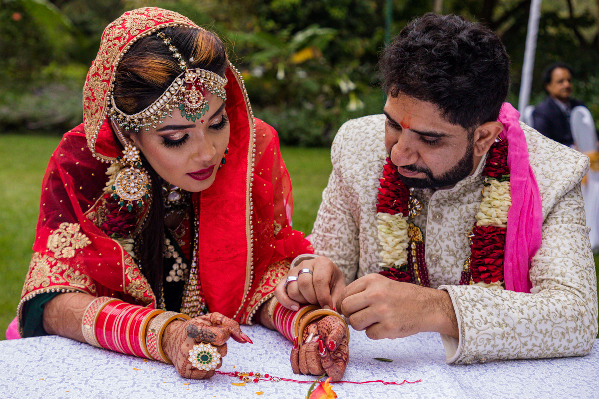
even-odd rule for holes
{"type": "MultiPolygon", "coordinates": [[[[31,260],[40,188],[56,136],[0,136],[0,340],[13,320],[31,260]]],[[[294,229],[310,234],[331,173],[328,148],[281,148],[291,175],[294,229]]],[[[595,255],[599,275],[599,255],[595,255]]],[[[599,282],[599,281],[598,281],[599,282]]]]}

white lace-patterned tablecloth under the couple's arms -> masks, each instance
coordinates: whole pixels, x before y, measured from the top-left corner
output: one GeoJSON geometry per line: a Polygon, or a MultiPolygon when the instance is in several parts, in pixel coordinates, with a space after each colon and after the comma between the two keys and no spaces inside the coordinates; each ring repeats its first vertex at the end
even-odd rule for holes
{"type": "MultiPolygon", "coordinates": [[[[291,343],[282,336],[260,326],[242,328],[253,345],[229,340],[228,354],[220,370],[259,371],[297,380],[310,379],[292,373],[288,355],[291,343]]],[[[436,333],[374,341],[364,332],[352,331],[351,337],[350,363],[344,379],[421,381],[403,385],[338,383],[333,389],[340,399],[599,397],[597,345],[585,357],[448,366],[436,333]],[[393,361],[377,361],[373,359],[376,357],[393,361]]],[[[231,383],[239,380],[225,375],[187,380],[181,378],[173,366],[58,336],[0,341],[0,354],[2,398],[304,399],[310,386],[286,381],[235,386],[231,383]]]]}

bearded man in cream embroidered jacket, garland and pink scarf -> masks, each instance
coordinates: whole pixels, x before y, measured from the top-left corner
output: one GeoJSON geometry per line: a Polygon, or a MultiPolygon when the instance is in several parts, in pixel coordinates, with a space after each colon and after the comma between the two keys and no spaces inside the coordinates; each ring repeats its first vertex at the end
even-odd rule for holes
{"type": "Polygon", "coordinates": [[[447,363],[588,353],[588,159],[518,123],[506,50],[478,23],[426,14],[380,69],[383,115],[335,137],[311,237],[321,257],[288,273],[313,275],[277,299],[336,306],[372,339],[437,331],[447,363]]]}

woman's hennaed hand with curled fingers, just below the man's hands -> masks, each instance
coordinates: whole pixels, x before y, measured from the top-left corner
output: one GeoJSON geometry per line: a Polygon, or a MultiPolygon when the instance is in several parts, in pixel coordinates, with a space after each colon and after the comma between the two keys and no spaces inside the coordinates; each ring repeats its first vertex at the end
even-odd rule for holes
{"type": "Polygon", "coordinates": [[[333,381],[343,378],[349,361],[346,324],[337,316],[325,316],[305,328],[304,343],[294,342],[291,368],[295,374],[320,375],[326,372],[333,381]]]}

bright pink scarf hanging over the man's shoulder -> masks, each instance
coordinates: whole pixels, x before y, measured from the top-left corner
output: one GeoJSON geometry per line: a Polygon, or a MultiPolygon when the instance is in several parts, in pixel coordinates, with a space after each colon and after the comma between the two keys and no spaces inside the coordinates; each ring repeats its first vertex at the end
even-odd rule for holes
{"type": "Polygon", "coordinates": [[[528,278],[531,259],[541,246],[543,214],[541,194],[528,162],[528,147],[520,126],[519,112],[503,103],[498,121],[503,124],[501,139],[507,139],[507,166],[510,168],[512,206],[507,214],[503,274],[506,289],[530,293],[528,278]]]}

